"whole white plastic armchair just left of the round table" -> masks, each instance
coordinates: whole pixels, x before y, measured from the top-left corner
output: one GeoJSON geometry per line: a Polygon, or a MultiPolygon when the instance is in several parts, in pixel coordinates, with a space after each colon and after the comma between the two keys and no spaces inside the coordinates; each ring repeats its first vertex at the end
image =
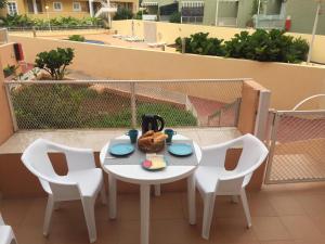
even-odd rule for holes
{"type": "Polygon", "coordinates": [[[62,201],[81,200],[90,242],[96,241],[94,204],[101,191],[106,203],[102,169],[95,167],[92,150],[74,149],[44,139],[32,142],[22,156],[24,165],[38,177],[43,190],[49,194],[43,234],[49,234],[54,204],[62,201]],[[55,174],[49,152],[64,153],[68,166],[66,176],[55,174]]]}

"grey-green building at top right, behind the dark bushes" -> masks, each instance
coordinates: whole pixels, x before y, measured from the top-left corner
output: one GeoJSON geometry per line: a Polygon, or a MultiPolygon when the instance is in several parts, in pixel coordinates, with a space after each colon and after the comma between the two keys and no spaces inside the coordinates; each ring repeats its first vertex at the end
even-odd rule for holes
{"type": "MultiPolygon", "coordinates": [[[[315,0],[143,0],[150,14],[168,21],[170,13],[180,12],[182,23],[227,27],[285,28],[310,34],[317,2],[315,0]],[[169,9],[169,11],[165,11],[169,9]]],[[[325,35],[325,0],[322,4],[317,34],[325,35]]]]}

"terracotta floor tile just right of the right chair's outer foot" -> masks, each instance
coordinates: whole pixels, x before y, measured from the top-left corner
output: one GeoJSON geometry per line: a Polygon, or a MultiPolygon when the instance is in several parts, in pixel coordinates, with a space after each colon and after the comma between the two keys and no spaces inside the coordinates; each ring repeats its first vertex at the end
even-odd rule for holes
{"type": "Polygon", "coordinates": [[[290,240],[289,232],[278,217],[253,217],[252,230],[259,241],[290,240]]]}

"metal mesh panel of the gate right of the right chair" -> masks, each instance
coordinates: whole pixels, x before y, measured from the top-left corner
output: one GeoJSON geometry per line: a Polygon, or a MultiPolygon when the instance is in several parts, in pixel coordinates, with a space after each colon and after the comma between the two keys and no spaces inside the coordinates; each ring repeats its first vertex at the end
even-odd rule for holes
{"type": "Polygon", "coordinates": [[[266,183],[325,180],[325,111],[277,113],[266,183]]]}

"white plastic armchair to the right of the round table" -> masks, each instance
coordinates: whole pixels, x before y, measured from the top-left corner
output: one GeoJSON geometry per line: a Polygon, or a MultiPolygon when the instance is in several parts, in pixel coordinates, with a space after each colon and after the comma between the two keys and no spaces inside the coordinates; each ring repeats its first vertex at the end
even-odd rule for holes
{"type": "Polygon", "coordinates": [[[251,134],[245,134],[222,144],[203,147],[203,158],[195,171],[195,179],[204,198],[202,230],[204,239],[209,239],[217,195],[240,196],[247,227],[251,227],[245,187],[249,183],[253,171],[266,158],[268,153],[265,145],[251,134]],[[226,151],[235,145],[243,145],[242,155],[235,169],[226,170],[224,166],[226,151]]]}

